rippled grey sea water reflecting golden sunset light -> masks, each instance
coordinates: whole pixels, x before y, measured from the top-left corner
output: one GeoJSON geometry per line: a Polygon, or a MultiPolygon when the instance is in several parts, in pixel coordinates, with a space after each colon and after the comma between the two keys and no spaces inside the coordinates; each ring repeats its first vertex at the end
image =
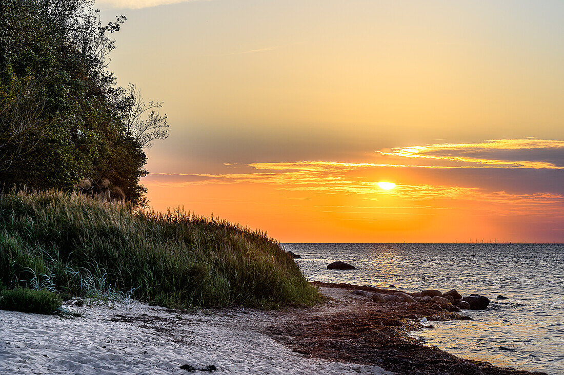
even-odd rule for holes
{"type": "Polygon", "coordinates": [[[425,345],[500,366],[564,374],[564,245],[283,244],[311,281],[417,292],[458,290],[490,298],[473,320],[433,322],[425,345]],[[354,271],[327,270],[343,261],[354,271]],[[509,299],[496,299],[503,294],[509,299]]]}

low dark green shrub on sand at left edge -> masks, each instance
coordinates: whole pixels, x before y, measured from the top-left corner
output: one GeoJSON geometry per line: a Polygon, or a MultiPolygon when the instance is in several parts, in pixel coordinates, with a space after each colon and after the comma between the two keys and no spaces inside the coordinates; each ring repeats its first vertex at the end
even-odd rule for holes
{"type": "Polygon", "coordinates": [[[60,307],[59,297],[45,289],[16,288],[0,292],[0,310],[54,314],[60,307]]]}

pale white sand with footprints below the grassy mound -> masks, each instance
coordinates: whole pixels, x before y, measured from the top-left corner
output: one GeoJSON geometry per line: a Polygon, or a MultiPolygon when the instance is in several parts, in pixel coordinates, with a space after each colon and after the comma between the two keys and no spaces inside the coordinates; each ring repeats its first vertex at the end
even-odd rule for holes
{"type": "Polygon", "coordinates": [[[70,303],[83,317],[0,310],[0,374],[188,374],[184,364],[214,365],[212,374],[390,374],[292,352],[259,332],[279,319],[275,312],[179,315],[135,301],[114,308],[70,303]]]}

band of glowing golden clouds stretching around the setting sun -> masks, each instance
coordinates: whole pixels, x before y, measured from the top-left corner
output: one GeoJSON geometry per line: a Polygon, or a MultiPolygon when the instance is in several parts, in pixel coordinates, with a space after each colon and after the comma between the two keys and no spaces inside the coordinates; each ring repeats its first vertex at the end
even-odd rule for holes
{"type": "MultiPolygon", "coordinates": [[[[391,196],[415,204],[424,200],[482,200],[503,205],[513,202],[549,211],[564,205],[562,184],[564,142],[556,140],[491,140],[482,143],[433,144],[393,148],[382,154],[394,163],[331,161],[263,162],[248,164],[241,173],[149,174],[144,183],[161,187],[208,184],[267,184],[278,190],[325,194],[391,196]],[[402,163],[402,159],[438,164],[402,163]],[[382,175],[394,176],[396,187],[378,187],[382,175]],[[523,188],[523,186],[528,188],[523,188]]],[[[230,163],[224,164],[226,167],[230,163]]]]}

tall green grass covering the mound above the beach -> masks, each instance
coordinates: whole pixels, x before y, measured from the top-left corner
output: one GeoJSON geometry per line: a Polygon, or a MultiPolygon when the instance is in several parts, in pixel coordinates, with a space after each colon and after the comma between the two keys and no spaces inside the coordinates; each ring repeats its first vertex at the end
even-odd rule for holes
{"type": "Polygon", "coordinates": [[[266,233],[58,191],[0,195],[0,283],[107,290],[165,306],[272,308],[319,298],[266,233]]]}

